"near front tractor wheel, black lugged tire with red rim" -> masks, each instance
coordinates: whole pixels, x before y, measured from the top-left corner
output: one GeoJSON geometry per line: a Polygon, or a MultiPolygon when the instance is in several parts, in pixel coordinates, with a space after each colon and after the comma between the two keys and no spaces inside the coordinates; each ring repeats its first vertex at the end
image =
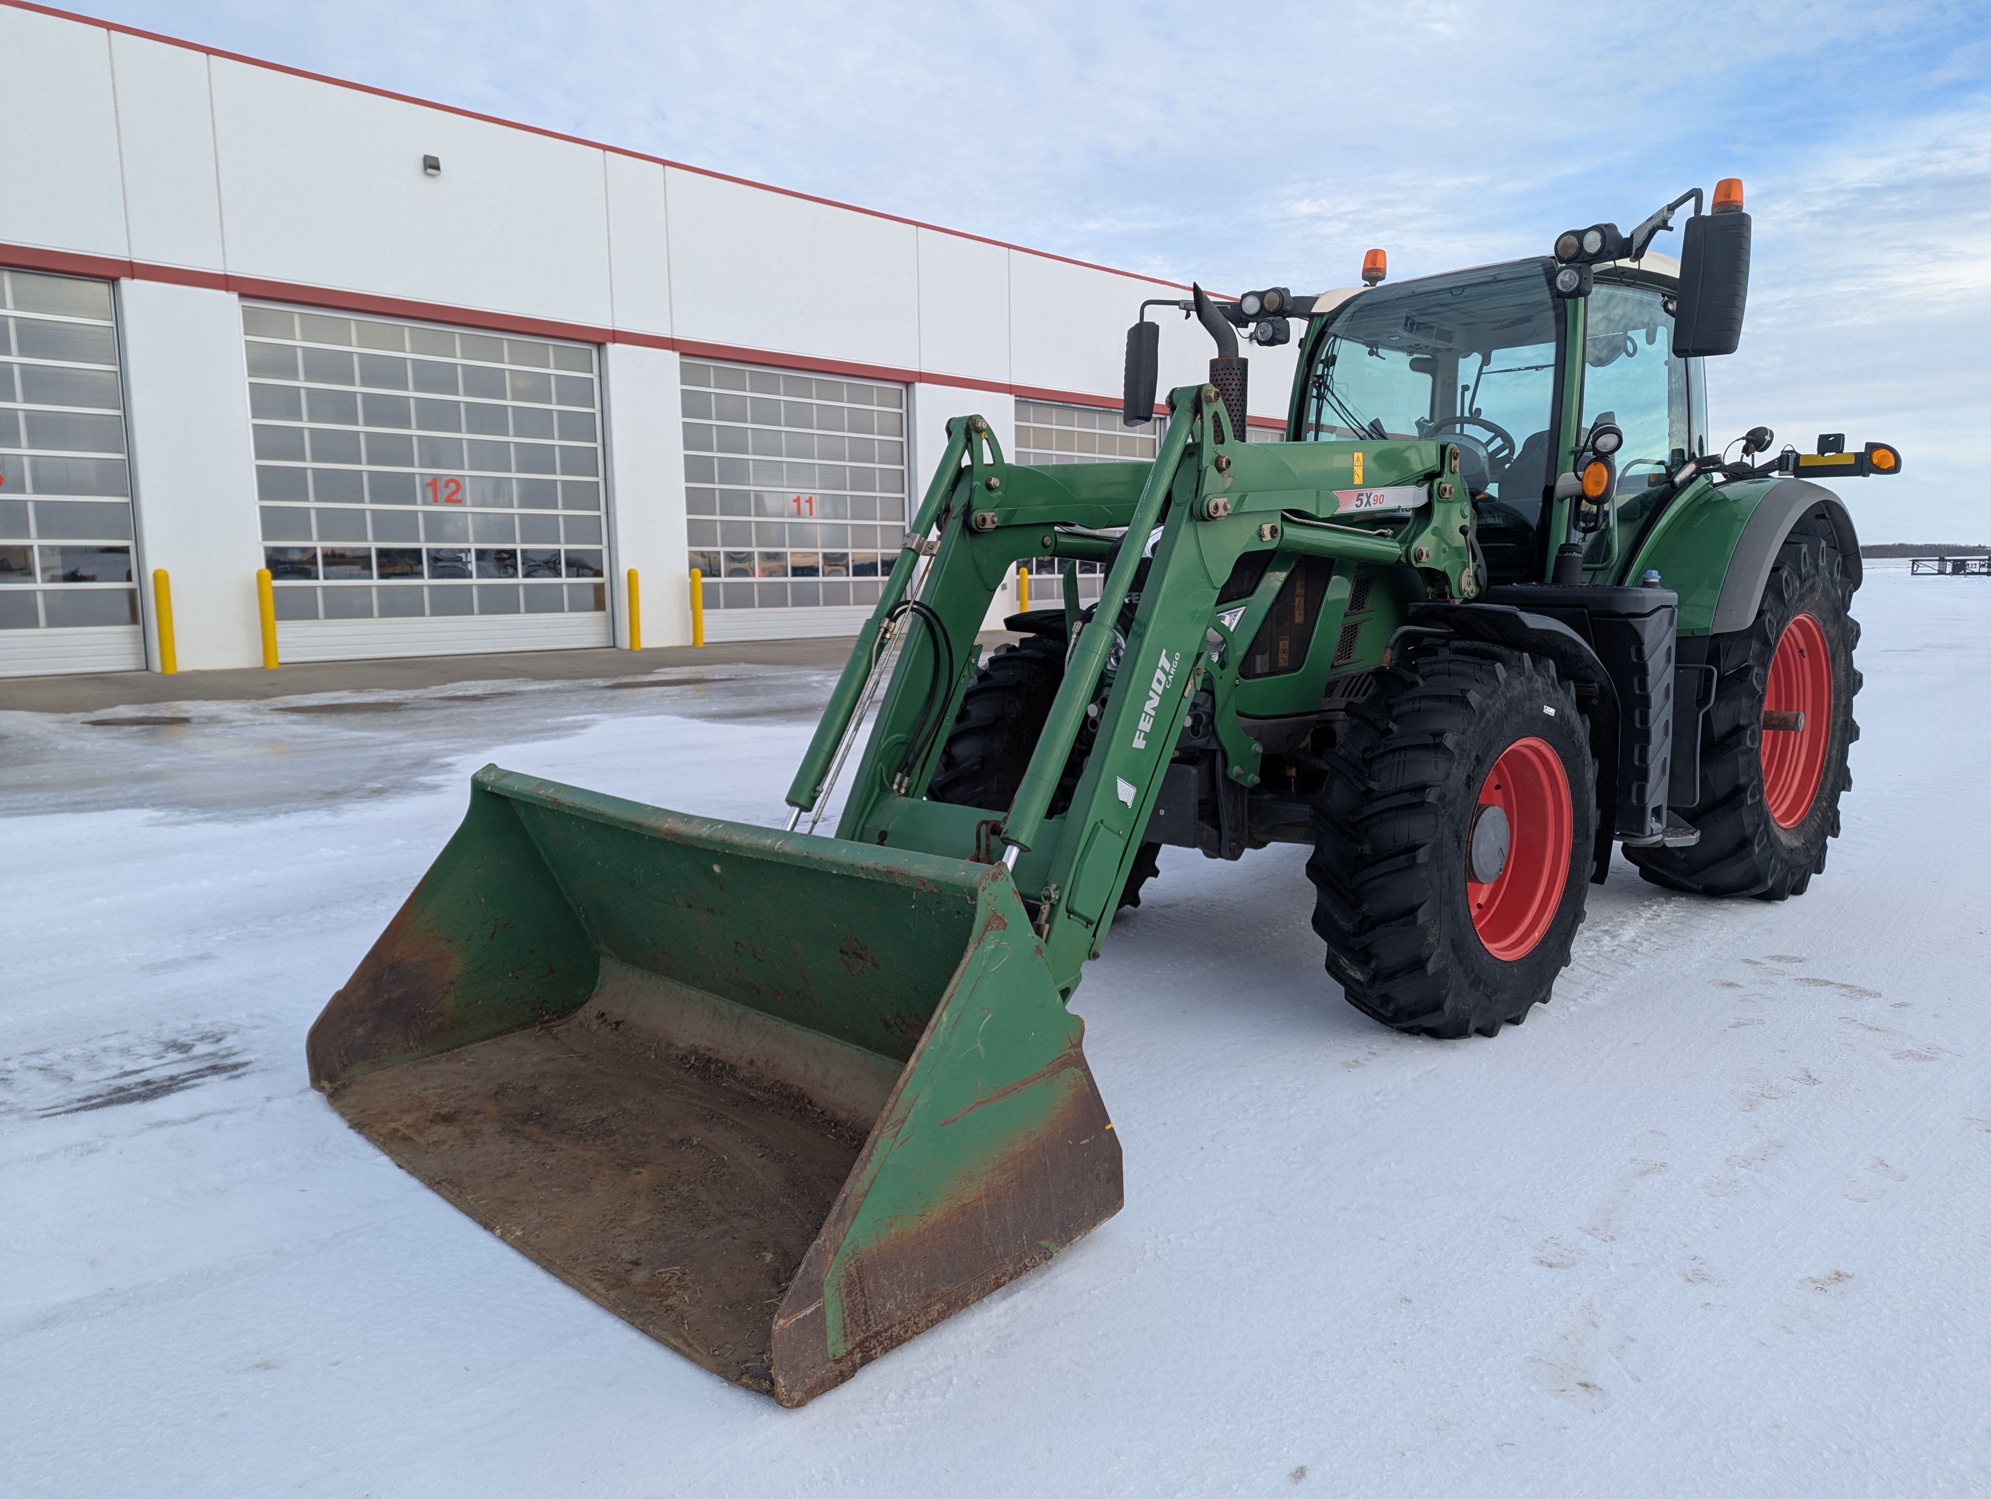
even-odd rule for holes
{"type": "Polygon", "coordinates": [[[1569,683],[1453,641],[1382,671],[1326,760],[1306,874],[1348,1003],[1447,1039],[1519,1025],[1569,965],[1597,834],[1569,683]]]}

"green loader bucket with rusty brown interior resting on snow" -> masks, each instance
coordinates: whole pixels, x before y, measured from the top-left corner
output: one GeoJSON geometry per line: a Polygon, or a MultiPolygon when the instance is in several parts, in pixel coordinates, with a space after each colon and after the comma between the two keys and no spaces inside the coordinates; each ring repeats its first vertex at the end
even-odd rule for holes
{"type": "Polygon", "coordinates": [[[1121,1206],[1001,864],[518,776],[311,1027],[311,1081],[615,1316],[784,1405],[1121,1206]]]}

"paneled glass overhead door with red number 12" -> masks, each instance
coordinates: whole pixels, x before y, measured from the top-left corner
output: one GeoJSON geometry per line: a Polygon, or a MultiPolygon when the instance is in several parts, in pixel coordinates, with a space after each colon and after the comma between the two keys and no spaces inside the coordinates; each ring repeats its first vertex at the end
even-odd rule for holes
{"type": "Polygon", "coordinates": [[[243,305],[285,661],[609,645],[595,350],[243,305]]]}

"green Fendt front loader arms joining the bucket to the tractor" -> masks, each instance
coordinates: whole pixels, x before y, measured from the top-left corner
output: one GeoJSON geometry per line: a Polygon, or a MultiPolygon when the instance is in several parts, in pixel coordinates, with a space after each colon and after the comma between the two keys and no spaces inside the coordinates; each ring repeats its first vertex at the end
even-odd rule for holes
{"type": "MultiPolygon", "coordinates": [[[[918,583],[918,601],[894,617],[910,593],[894,589],[898,597],[888,593],[874,615],[880,633],[886,627],[900,633],[900,655],[850,772],[836,828],[838,838],[874,848],[1005,862],[1067,999],[1111,924],[1191,699],[1209,683],[1230,717],[1240,651],[1218,627],[1217,597],[1238,557],[1272,553],[1240,627],[1264,617],[1280,581],[1304,557],[1370,565],[1414,557],[1426,587],[1447,595],[1473,589],[1469,510],[1445,480],[1455,452],[1449,444],[1252,446],[1230,430],[1211,386],[1171,392],[1169,408],[1153,464],[1035,470],[1003,464],[986,436],[950,442],[920,512],[938,524],[940,535],[928,543],[932,561],[918,583]],[[1356,520],[1338,516],[1356,472],[1372,490],[1396,486],[1414,504],[1342,524],[1356,520]],[[1071,641],[1063,681],[1013,802],[974,808],[928,800],[944,739],[936,731],[954,721],[974,677],[974,635],[1001,579],[1021,557],[1099,555],[1097,532],[1107,528],[1125,530],[1127,541],[1111,553],[1101,599],[1071,641]],[[1129,619],[1143,555],[1151,559],[1129,619]],[[1215,655],[1213,639],[1224,647],[1215,655]],[[1097,733],[1085,768],[1069,806],[1051,814],[1089,713],[1097,715],[1097,733]]],[[[972,428],[974,418],[950,424],[956,436],[972,428]]],[[[1332,639],[1346,597],[1346,581],[1328,589],[1330,615],[1316,633],[1332,639]]],[[[790,800],[808,800],[804,782],[828,764],[830,750],[850,731],[878,637],[862,637],[852,651],[810,747],[808,774],[796,778],[790,800]]],[[[1256,741],[1240,729],[1222,741],[1230,778],[1256,784],[1256,741]]]]}

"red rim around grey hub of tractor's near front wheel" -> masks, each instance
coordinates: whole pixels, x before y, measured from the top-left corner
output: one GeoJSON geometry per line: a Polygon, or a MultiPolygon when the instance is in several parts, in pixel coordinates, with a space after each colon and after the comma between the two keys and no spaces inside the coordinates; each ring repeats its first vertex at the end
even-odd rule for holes
{"type": "Polygon", "coordinates": [[[1577,816],[1563,756],[1545,739],[1517,739],[1487,770],[1479,806],[1507,814],[1507,862],[1487,884],[1477,884],[1467,864],[1465,904],[1485,950],[1511,964],[1549,934],[1569,882],[1577,816]]]}

